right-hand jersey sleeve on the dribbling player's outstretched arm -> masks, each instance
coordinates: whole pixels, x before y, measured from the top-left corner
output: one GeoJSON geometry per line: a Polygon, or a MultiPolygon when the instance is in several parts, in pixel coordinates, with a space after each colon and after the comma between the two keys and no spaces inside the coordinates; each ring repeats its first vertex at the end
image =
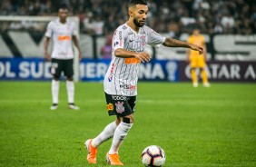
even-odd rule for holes
{"type": "Polygon", "coordinates": [[[153,29],[148,28],[148,41],[147,44],[153,45],[155,47],[160,47],[164,43],[165,37],[161,34],[156,33],[153,29]]]}

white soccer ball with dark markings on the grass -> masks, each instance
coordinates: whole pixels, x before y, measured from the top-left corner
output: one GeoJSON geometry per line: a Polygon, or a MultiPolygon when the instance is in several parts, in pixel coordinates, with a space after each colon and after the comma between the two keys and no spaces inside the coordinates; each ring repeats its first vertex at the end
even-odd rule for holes
{"type": "Polygon", "coordinates": [[[148,146],[143,150],[142,161],[145,166],[162,166],[165,162],[165,152],[157,145],[148,146]]]}

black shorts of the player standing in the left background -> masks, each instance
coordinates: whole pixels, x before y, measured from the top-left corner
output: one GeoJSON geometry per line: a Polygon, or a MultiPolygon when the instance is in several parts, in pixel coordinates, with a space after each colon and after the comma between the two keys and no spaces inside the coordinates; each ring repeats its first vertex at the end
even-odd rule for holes
{"type": "Polygon", "coordinates": [[[68,78],[73,76],[73,59],[52,59],[51,73],[54,77],[60,78],[62,72],[68,78]]]}

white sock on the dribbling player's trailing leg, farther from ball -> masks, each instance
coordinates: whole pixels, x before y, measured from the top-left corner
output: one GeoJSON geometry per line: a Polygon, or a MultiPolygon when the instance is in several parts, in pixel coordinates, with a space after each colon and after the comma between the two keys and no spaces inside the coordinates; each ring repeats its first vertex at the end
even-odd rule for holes
{"type": "Polygon", "coordinates": [[[109,140],[113,137],[113,133],[116,129],[117,125],[115,121],[113,123],[109,123],[97,137],[92,141],[93,147],[98,147],[101,143],[109,140]]]}

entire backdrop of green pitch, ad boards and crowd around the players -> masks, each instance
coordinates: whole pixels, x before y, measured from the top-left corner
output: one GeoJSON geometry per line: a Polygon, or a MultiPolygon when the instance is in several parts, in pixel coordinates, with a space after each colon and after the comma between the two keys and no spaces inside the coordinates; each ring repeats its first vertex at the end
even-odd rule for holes
{"type": "MultiPolygon", "coordinates": [[[[151,82],[139,82],[136,120],[120,149],[121,160],[128,167],[142,166],[143,149],[158,144],[167,167],[256,166],[255,1],[148,2],[147,25],[161,34],[185,41],[200,27],[212,86],[193,88],[188,82],[184,49],[147,47],[154,59],[142,64],[140,80],[151,82]]],[[[110,61],[101,49],[127,20],[126,5],[123,0],[0,0],[0,166],[88,166],[84,140],[113,121],[98,82],[110,61]],[[59,109],[49,109],[51,74],[43,49],[48,22],[10,21],[57,15],[63,2],[79,18],[83,49],[84,82],[75,84],[81,110],[75,112],[67,108],[64,82],[59,109]]],[[[95,166],[106,166],[109,145],[101,145],[95,166]]]]}

